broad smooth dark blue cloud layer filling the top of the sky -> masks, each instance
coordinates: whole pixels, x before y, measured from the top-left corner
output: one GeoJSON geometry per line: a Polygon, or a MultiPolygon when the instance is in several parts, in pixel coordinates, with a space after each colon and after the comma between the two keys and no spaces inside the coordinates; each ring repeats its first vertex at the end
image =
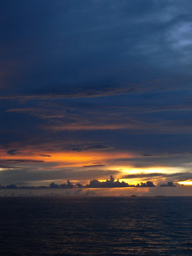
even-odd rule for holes
{"type": "Polygon", "coordinates": [[[116,95],[142,90],[140,81],[147,76],[143,88],[150,88],[157,70],[159,76],[190,72],[188,0],[1,5],[2,76],[7,85],[1,98],[116,95]]]}

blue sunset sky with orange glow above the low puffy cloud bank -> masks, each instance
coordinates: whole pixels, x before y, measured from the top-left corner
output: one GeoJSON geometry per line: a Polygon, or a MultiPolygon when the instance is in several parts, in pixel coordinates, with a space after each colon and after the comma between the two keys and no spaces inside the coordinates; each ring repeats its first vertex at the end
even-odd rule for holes
{"type": "Polygon", "coordinates": [[[0,10],[0,184],[113,175],[192,193],[192,1],[0,10]]]}

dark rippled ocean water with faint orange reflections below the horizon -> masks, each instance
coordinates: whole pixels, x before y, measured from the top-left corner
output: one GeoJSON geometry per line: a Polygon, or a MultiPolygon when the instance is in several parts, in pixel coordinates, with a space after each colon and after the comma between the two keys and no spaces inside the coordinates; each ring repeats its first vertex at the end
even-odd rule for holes
{"type": "Polygon", "coordinates": [[[0,198],[1,256],[192,256],[192,197],[0,198]]]}

